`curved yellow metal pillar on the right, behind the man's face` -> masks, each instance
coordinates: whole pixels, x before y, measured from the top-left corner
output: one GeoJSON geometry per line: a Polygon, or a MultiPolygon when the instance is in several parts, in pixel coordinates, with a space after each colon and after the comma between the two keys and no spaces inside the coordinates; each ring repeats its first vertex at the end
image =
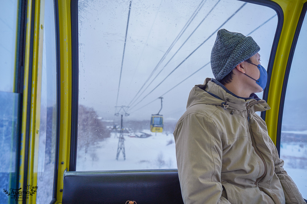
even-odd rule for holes
{"type": "Polygon", "coordinates": [[[306,2],[306,0],[274,0],[274,2],[277,2],[282,7],[284,13],[284,22],[272,69],[267,100],[271,110],[266,112],[268,132],[276,145],[278,111],[282,84],[297,22],[300,17],[303,3],[306,2]]]}

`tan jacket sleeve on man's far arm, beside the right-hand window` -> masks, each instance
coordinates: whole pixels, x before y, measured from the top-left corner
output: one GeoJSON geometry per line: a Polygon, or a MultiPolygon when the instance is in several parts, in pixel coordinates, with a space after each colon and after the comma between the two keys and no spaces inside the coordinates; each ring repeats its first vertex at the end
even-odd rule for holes
{"type": "Polygon", "coordinates": [[[274,172],[278,176],[280,183],[282,184],[282,190],[285,194],[286,204],[299,203],[306,204],[301,193],[298,191],[297,186],[291,177],[287,174],[283,168],[284,161],[279,158],[277,149],[272,140],[270,140],[270,146],[273,153],[274,160],[274,172]]]}

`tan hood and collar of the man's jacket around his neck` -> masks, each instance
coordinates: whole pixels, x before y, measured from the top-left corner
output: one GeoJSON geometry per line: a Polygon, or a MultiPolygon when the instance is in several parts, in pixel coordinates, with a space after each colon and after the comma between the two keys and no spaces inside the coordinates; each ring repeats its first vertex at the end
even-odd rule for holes
{"type": "Polygon", "coordinates": [[[205,79],[204,84],[195,85],[190,91],[187,109],[196,104],[216,105],[232,110],[246,110],[249,107],[252,113],[270,109],[268,104],[256,94],[251,94],[249,98],[239,97],[216,79],[210,78],[205,79]]]}

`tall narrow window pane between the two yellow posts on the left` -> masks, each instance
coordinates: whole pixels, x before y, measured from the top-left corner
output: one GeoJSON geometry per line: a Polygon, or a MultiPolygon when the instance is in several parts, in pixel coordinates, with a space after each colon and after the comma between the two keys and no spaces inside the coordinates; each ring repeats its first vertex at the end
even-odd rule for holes
{"type": "Polygon", "coordinates": [[[53,0],[45,1],[36,203],[52,198],[56,148],[56,38],[53,0]]]}

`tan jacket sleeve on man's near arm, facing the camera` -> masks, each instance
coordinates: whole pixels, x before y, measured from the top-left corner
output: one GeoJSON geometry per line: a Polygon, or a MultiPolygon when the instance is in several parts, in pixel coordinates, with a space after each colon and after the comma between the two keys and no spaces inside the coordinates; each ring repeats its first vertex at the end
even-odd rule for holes
{"type": "Polygon", "coordinates": [[[230,204],[222,196],[222,142],[215,123],[202,114],[190,113],[177,123],[174,137],[185,204],[230,204]]]}

